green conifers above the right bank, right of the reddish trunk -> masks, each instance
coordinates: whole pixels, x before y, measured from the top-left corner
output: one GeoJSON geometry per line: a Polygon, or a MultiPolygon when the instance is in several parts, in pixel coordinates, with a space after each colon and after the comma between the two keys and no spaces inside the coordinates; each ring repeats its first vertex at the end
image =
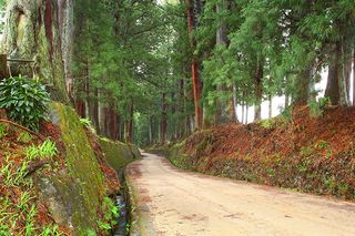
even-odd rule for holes
{"type": "Polygon", "coordinates": [[[196,29],[205,117],[221,120],[233,98],[229,86],[239,104],[254,105],[255,120],[273,95],[306,104],[325,69],[325,96],[348,105],[354,11],[352,0],[205,2],[196,29]]]}

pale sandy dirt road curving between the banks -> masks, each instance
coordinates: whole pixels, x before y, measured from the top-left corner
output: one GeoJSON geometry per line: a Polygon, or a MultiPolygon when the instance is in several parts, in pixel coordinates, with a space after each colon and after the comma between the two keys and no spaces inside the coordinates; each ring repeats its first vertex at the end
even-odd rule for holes
{"type": "Polygon", "coordinates": [[[187,173],[144,155],[126,168],[141,235],[355,235],[355,204],[187,173]]]}

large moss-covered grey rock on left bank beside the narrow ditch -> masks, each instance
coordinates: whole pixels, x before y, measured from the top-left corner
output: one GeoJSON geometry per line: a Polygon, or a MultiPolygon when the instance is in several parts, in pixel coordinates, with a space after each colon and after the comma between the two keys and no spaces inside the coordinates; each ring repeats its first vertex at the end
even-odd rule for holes
{"type": "Polygon", "coordinates": [[[40,177],[37,185],[58,223],[71,227],[74,235],[88,235],[98,228],[98,213],[106,193],[104,175],[75,111],[60,103],[51,107],[61,129],[67,170],[53,177],[40,177]]]}

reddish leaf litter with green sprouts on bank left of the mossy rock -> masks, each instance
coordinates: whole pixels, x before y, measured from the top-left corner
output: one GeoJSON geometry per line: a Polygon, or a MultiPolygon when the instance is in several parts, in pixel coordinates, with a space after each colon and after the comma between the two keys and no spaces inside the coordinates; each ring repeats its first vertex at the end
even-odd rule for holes
{"type": "Polygon", "coordinates": [[[0,235],[24,235],[39,227],[52,233],[71,235],[70,229],[54,226],[54,220],[45,204],[38,197],[37,189],[27,173],[30,166],[38,166],[33,172],[51,175],[64,167],[60,155],[63,146],[60,141],[60,129],[51,123],[41,125],[40,137],[27,131],[0,123],[0,235]],[[31,160],[29,150],[38,147],[43,138],[57,141],[58,153],[52,160],[31,160]]]}

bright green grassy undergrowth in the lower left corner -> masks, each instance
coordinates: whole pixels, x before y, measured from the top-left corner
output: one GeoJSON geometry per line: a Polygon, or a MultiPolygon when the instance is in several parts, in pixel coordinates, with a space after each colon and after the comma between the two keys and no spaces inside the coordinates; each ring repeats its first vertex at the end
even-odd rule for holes
{"type": "Polygon", "coordinates": [[[31,162],[57,155],[55,143],[48,140],[28,146],[30,142],[36,142],[31,135],[4,125],[0,127],[4,138],[0,142],[0,235],[65,235],[47,215],[49,213],[43,215],[32,178],[28,176],[31,162]],[[17,135],[14,140],[18,143],[13,143],[10,136],[8,138],[10,134],[17,135]]]}

